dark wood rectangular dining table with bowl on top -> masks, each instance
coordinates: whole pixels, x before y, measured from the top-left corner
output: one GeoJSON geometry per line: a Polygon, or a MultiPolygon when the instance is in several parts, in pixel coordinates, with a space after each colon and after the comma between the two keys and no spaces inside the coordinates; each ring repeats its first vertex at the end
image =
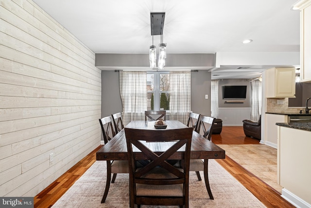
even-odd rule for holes
{"type": "MultiPolygon", "coordinates": [[[[155,129],[155,121],[131,121],[126,128],[133,129],[154,129],[155,131],[165,131],[169,129],[180,129],[187,128],[187,126],[177,120],[167,120],[166,129],[155,129]]],[[[166,142],[149,142],[148,148],[153,151],[161,152],[165,151],[168,145],[166,142]]],[[[181,154],[176,154],[174,158],[170,159],[181,159],[181,154]]],[[[139,157],[139,152],[137,152],[139,157]]],[[[192,132],[191,141],[191,153],[190,159],[224,159],[225,151],[207,140],[199,133],[192,132]]],[[[124,129],[117,133],[107,144],[105,144],[99,151],[96,152],[96,160],[127,160],[127,147],[124,129]]]]}

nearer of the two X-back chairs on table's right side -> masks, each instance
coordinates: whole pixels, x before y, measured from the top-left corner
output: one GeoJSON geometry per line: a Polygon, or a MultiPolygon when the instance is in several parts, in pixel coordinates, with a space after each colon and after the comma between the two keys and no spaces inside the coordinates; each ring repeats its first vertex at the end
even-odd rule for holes
{"type": "MultiPolygon", "coordinates": [[[[215,123],[215,118],[208,117],[205,115],[200,114],[200,117],[198,119],[195,132],[198,132],[203,137],[211,140],[211,135],[213,131],[215,123]]],[[[209,181],[208,181],[208,159],[205,159],[204,162],[201,159],[191,159],[190,160],[190,171],[195,171],[198,180],[201,181],[201,176],[199,171],[204,171],[204,180],[205,180],[205,186],[207,189],[207,193],[210,199],[214,199],[212,191],[209,187],[209,181]]]]}

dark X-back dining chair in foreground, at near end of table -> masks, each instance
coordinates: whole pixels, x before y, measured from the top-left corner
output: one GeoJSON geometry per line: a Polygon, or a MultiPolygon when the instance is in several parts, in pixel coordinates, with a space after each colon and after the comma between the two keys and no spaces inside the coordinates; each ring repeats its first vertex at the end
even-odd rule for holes
{"type": "Polygon", "coordinates": [[[124,129],[130,177],[130,207],[138,205],[177,205],[189,207],[189,161],[192,128],[171,130],[124,129]],[[147,143],[167,142],[168,149],[162,153],[148,148],[147,143]],[[133,147],[134,146],[134,147],[133,147]],[[183,147],[184,146],[184,147],[183,147]],[[180,149],[182,148],[182,149],[180,149]],[[135,150],[141,151],[141,155],[135,150]],[[133,151],[134,150],[134,151],[133,151]],[[172,155],[183,158],[183,167],[167,162],[172,155]],[[148,158],[150,163],[137,168],[136,160],[148,158]]]}

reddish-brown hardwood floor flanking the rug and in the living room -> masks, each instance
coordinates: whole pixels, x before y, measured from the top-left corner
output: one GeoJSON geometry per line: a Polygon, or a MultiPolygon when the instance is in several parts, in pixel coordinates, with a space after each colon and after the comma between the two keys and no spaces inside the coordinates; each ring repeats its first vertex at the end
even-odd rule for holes
{"type": "MultiPolygon", "coordinates": [[[[212,141],[215,144],[259,144],[259,140],[246,137],[242,127],[223,127],[221,134],[212,135],[212,141]]],[[[89,153],[49,187],[35,196],[35,208],[52,207],[52,205],[96,161],[96,151],[98,151],[100,147],[89,153]]],[[[251,172],[242,168],[241,165],[233,161],[230,157],[216,161],[240,181],[246,189],[252,192],[267,208],[294,208],[294,206],[284,200],[275,189],[271,188],[251,172]]]]}

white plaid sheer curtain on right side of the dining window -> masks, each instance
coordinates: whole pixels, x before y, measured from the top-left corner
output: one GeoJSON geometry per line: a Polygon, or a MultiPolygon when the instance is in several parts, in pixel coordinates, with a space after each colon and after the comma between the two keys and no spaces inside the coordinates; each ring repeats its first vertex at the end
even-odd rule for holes
{"type": "Polygon", "coordinates": [[[170,120],[186,124],[191,111],[191,72],[170,72],[170,120]]]}

